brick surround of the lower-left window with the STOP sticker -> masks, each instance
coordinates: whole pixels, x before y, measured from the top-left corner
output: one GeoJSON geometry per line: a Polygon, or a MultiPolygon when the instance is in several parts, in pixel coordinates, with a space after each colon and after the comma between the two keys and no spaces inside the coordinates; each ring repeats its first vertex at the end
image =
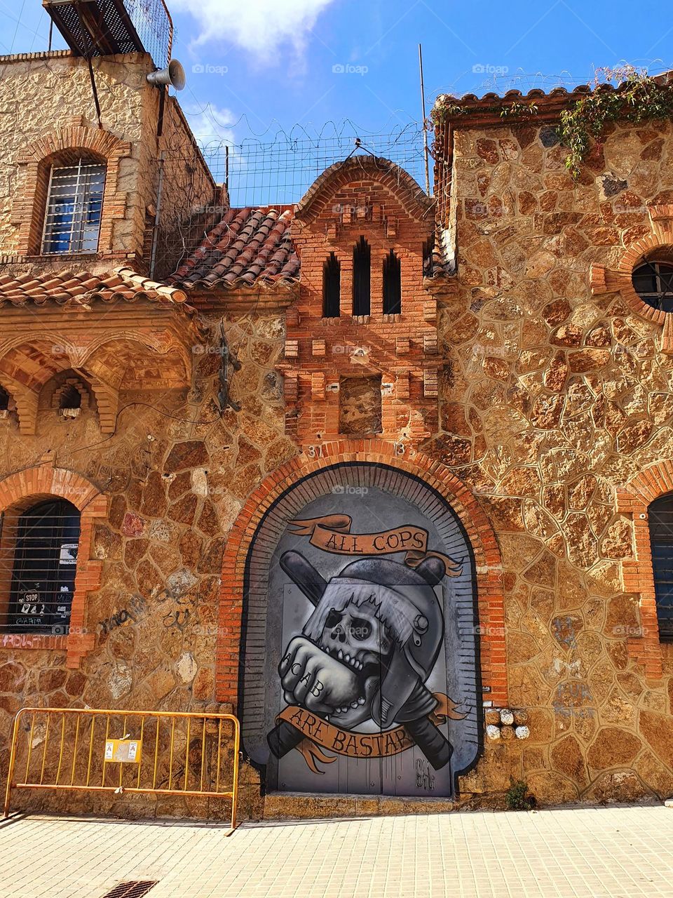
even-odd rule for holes
{"type": "MultiPolygon", "coordinates": [[[[9,634],[0,636],[0,647],[66,649],[66,665],[79,667],[83,656],[94,645],[94,634],[87,633],[84,628],[84,608],[87,594],[101,584],[102,562],[91,557],[93,522],[106,515],[108,499],[80,474],[49,464],[26,468],[0,480],[0,512],[11,510],[21,514],[30,506],[53,497],[67,499],[81,515],[70,632],[67,636],[9,634]]],[[[0,600],[4,598],[0,596],[0,600]]]]}

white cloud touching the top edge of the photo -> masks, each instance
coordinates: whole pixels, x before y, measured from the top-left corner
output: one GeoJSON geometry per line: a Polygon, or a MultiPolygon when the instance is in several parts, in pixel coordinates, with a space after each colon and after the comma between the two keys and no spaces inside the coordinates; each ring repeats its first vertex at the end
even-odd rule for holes
{"type": "Polygon", "coordinates": [[[284,44],[301,52],[319,14],[335,0],[173,0],[173,8],[191,13],[199,33],[192,47],[233,41],[258,61],[284,44]]]}

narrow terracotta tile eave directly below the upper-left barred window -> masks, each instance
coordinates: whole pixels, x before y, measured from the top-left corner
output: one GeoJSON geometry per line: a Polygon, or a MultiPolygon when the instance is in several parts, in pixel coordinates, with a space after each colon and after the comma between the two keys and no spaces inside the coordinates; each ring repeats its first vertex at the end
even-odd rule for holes
{"type": "Polygon", "coordinates": [[[112,303],[118,299],[127,303],[148,299],[153,303],[181,305],[187,294],[178,287],[159,284],[127,268],[114,269],[101,277],[89,271],[0,277],[0,306],[57,303],[87,307],[92,302],[112,303]]]}

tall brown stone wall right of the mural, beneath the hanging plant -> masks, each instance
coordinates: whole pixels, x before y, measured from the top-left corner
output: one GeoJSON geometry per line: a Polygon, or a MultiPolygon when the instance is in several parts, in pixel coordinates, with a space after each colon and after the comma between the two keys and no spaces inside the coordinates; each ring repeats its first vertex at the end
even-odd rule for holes
{"type": "Polygon", "coordinates": [[[459,293],[441,312],[441,432],[424,449],[494,524],[510,701],[530,729],[486,744],[476,793],[511,776],[545,802],[673,790],[673,647],[625,593],[634,524],[617,510],[673,453],[673,365],[658,325],[590,289],[591,265],[616,268],[673,197],[671,136],[617,128],[574,184],[548,127],[455,133],[459,293]]]}

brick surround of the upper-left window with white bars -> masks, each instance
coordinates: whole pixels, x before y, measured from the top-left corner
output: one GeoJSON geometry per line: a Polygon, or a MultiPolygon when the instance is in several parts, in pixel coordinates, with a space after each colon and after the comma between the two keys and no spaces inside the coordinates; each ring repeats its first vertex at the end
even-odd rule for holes
{"type": "Polygon", "coordinates": [[[17,253],[34,256],[42,251],[49,169],[53,163],[73,163],[80,156],[106,165],[99,252],[110,252],[112,222],[125,216],[127,206],[127,194],[119,188],[119,162],[130,154],[129,143],[109,131],[90,128],[83,119],[74,119],[70,127],[52,131],[26,146],[17,160],[26,166],[25,183],[12,211],[19,227],[17,253]]]}

